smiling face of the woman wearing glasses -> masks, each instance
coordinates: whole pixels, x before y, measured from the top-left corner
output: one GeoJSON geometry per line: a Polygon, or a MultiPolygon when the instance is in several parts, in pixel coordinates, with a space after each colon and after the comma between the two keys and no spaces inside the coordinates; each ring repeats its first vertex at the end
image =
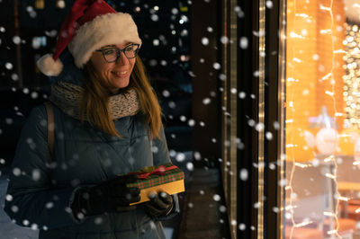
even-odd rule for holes
{"type": "MultiPolygon", "coordinates": [[[[125,42],[121,45],[104,46],[101,49],[124,49],[130,44],[130,42],[125,42]]],[[[103,58],[103,52],[94,51],[90,61],[94,66],[95,73],[103,79],[103,83],[112,91],[112,93],[117,93],[119,89],[129,85],[130,75],[135,66],[135,58],[126,58],[121,51],[120,58],[115,62],[109,63],[103,58]]]]}

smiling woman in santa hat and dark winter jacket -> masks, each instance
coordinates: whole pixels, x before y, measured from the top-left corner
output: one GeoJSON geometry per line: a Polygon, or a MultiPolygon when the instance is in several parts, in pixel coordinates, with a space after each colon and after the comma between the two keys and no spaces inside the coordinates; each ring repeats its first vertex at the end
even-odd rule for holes
{"type": "Polygon", "coordinates": [[[178,213],[176,196],[159,192],[130,206],[139,189],[126,186],[137,179],[126,173],[170,162],[140,46],[129,14],[77,0],[54,54],[40,58],[56,81],[53,154],[41,105],[23,127],[4,207],[40,238],[165,238],[159,221],[178,213]]]}

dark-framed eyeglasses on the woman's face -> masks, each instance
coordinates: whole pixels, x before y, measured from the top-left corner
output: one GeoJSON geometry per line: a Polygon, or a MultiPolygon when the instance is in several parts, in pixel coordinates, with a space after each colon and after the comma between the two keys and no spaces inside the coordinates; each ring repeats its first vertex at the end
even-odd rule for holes
{"type": "Polygon", "coordinates": [[[121,51],[128,59],[135,58],[139,52],[139,44],[130,44],[129,46],[126,46],[124,49],[111,47],[108,49],[97,49],[96,51],[102,52],[105,61],[111,63],[117,61],[120,58],[121,51]]]}

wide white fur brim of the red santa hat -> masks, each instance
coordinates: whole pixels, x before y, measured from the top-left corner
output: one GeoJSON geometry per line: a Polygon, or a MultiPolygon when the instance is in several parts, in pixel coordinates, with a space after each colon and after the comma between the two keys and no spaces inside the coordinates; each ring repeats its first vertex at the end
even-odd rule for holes
{"type": "Polygon", "coordinates": [[[82,68],[94,50],[126,41],[141,45],[138,28],[130,14],[107,13],[82,25],[68,44],[68,49],[75,58],[75,65],[82,68]]]}

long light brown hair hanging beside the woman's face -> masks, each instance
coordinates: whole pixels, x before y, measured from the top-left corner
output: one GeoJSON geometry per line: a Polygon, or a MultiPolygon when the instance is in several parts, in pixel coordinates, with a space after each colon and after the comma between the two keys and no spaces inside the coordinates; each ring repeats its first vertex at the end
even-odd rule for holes
{"type": "MultiPolygon", "coordinates": [[[[90,61],[85,64],[84,93],[80,102],[81,121],[86,120],[90,124],[103,130],[112,136],[121,137],[117,132],[110,115],[109,100],[112,93],[106,87],[104,81],[94,71],[94,66],[90,61]]],[[[157,101],[157,95],[148,80],[145,66],[139,56],[130,75],[130,83],[126,89],[133,88],[139,97],[140,110],[145,116],[146,123],[150,128],[151,137],[159,137],[162,125],[161,108],[157,101]]]]}

